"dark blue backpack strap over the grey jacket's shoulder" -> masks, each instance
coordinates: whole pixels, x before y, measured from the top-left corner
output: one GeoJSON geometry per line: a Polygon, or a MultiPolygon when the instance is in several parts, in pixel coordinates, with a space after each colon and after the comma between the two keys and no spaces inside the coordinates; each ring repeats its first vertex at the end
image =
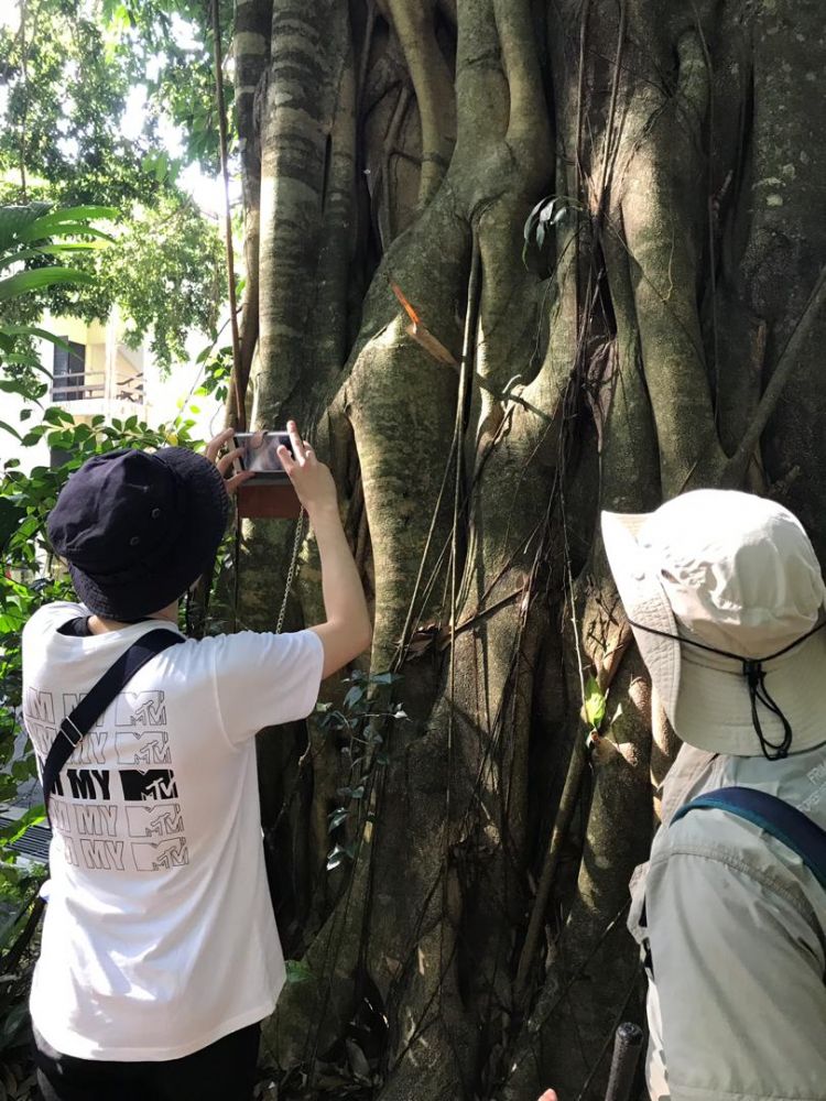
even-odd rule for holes
{"type": "Polygon", "coordinates": [[[684,804],[671,820],[675,822],[689,810],[704,809],[727,810],[730,815],[759,826],[792,852],[796,852],[826,890],[826,830],[802,810],[775,795],[753,787],[720,787],[684,804]]]}

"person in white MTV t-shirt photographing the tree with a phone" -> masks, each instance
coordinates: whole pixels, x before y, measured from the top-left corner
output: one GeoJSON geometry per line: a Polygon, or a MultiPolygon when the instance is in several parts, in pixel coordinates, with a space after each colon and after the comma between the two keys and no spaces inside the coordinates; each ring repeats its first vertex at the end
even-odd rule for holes
{"type": "MultiPolygon", "coordinates": [[[[254,734],[302,719],[371,626],[329,470],[289,430],[280,458],[322,559],[326,622],[186,640],[149,661],[80,741],[50,802],[50,901],[31,1013],[46,1101],[248,1101],[284,983],[264,873],[254,734]]],[[[23,631],[41,766],[61,720],[214,562],[247,477],[185,448],[97,456],[50,515],[80,603],[23,631]]]]}

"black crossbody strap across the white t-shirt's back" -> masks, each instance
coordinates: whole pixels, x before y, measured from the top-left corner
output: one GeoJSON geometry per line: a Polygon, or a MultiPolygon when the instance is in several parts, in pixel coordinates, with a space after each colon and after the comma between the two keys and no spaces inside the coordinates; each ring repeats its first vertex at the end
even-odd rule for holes
{"type": "Polygon", "coordinates": [[[48,814],[50,797],[57,786],[63,766],[77,749],[80,739],[91,730],[138,669],[157,654],[163,653],[164,650],[185,641],[182,635],[166,628],[148,631],[120,655],[98,683],[87,691],[72,715],[67,715],[61,722],[43,765],[43,800],[46,805],[46,814],[48,814]]]}

